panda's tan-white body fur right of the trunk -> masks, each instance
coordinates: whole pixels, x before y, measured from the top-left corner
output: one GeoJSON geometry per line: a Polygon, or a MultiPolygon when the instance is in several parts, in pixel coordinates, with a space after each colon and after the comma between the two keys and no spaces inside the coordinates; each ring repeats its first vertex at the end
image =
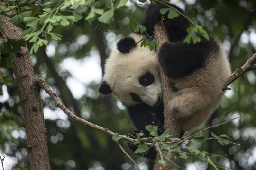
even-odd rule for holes
{"type": "Polygon", "coordinates": [[[168,109],[174,114],[178,110],[177,117],[190,117],[184,124],[183,131],[191,131],[206,122],[225,93],[223,85],[230,76],[227,55],[222,48],[217,54],[211,55],[218,57],[208,58],[205,67],[191,75],[171,79],[178,91],[171,93],[172,100],[168,102],[168,109]]]}

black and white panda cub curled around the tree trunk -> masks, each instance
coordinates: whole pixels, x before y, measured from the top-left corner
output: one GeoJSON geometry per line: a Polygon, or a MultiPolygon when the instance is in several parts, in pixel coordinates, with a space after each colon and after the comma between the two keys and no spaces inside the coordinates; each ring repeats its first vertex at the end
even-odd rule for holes
{"type": "MultiPolygon", "coordinates": [[[[184,14],[181,8],[168,4],[184,14]]],[[[201,42],[183,43],[187,36],[189,21],[179,15],[168,19],[160,14],[162,3],[149,5],[142,25],[154,35],[154,25],[164,16],[164,25],[169,35],[158,54],[138,43],[146,34],[131,33],[117,43],[106,60],[105,74],[99,92],[114,94],[126,106],[138,130],[146,134],[145,126],[153,124],[163,131],[164,114],[159,67],[171,82],[170,113],[188,119],[183,131],[192,131],[205,123],[219,106],[224,94],[223,85],[230,75],[229,61],[220,43],[210,36],[201,37],[201,42]]]]}

